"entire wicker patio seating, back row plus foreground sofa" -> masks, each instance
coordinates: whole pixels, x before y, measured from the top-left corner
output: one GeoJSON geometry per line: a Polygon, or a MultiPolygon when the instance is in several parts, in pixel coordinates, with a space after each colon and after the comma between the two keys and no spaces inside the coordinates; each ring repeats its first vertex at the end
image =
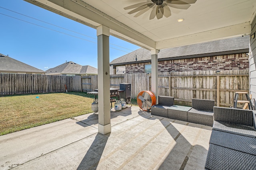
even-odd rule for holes
{"type": "Polygon", "coordinates": [[[192,99],[192,107],[176,106],[173,97],[158,96],[151,114],[212,126],[206,170],[256,169],[256,111],[216,107],[214,100],[202,99],[192,99]]]}

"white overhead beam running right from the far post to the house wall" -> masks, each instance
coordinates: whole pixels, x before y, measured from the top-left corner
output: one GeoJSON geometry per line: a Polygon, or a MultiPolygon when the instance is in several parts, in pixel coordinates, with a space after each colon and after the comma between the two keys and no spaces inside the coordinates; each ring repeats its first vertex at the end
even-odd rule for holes
{"type": "Polygon", "coordinates": [[[204,43],[218,39],[225,39],[230,37],[237,37],[242,35],[250,35],[251,25],[250,22],[240,23],[210,31],[204,31],[192,35],[167,39],[156,42],[156,49],[166,49],[172,47],[180,47],[184,45],[191,45],[197,43],[204,43]]]}

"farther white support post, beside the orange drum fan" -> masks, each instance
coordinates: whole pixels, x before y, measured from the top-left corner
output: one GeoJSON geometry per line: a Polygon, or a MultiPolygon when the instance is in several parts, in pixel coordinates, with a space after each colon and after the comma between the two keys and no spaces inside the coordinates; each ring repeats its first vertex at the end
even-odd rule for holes
{"type": "Polygon", "coordinates": [[[156,104],[158,104],[158,50],[151,50],[151,84],[152,84],[152,92],[156,96],[156,104]]]}

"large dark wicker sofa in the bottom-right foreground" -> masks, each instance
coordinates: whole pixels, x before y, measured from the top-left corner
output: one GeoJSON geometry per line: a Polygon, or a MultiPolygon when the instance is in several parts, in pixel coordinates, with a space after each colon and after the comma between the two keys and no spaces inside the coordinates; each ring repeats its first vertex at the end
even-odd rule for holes
{"type": "Polygon", "coordinates": [[[206,170],[256,169],[255,111],[214,107],[206,170]]]}

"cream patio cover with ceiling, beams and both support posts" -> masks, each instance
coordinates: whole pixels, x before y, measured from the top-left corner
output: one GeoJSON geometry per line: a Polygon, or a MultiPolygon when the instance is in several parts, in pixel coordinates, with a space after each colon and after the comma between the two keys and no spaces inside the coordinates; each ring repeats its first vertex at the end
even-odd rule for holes
{"type": "Polygon", "coordinates": [[[186,10],[170,7],[172,15],[159,20],[149,20],[151,10],[134,17],[136,12],[128,14],[129,10],[124,9],[147,0],[25,1],[97,29],[98,79],[104,81],[104,85],[98,83],[99,105],[103,106],[99,107],[98,131],[102,134],[111,131],[108,96],[110,35],[151,50],[152,91],[158,96],[159,50],[250,35],[256,15],[255,0],[197,0],[186,10]],[[184,21],[178,22],[180,18],[184,21]]]}

